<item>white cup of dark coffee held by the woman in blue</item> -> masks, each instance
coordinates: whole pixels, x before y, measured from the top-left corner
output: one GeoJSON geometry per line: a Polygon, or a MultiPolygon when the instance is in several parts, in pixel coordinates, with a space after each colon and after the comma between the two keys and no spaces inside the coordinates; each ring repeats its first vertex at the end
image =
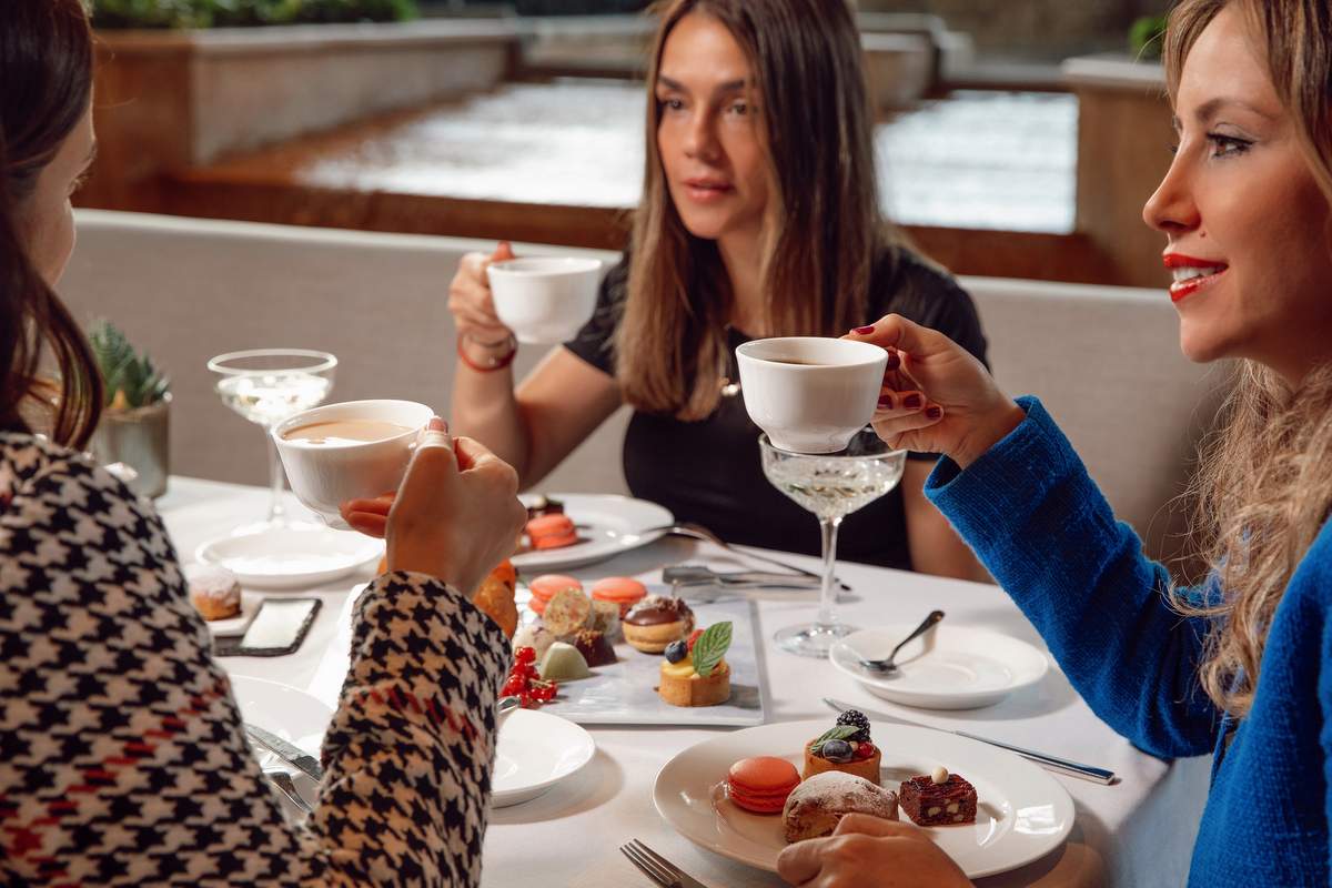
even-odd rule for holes
{"type": "Polygon", "coordinates": [[[888,353],[823,337],[754,339],[735,349],[750,419],[775,447],[836,453],[874,417],[888,353]]]}

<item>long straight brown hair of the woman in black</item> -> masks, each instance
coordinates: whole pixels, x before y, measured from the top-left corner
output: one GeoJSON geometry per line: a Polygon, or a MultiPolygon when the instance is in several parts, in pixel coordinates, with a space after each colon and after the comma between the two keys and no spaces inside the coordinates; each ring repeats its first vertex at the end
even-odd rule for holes
{"type": "Polygon", "coordinates": [[[896,242],[879,213],[874,117],[846,0],[670,0],[647,75],[647,157],[627,297],[615,338],[625,399],[681,419],[709,415],[729,366],[733,294],[714,241],[681,221],[665,181],[657,75],[686,15],[717,19],[745,51],[769,149],[762,330],[839,335],[864,324],[876,256],[896,242]]]}

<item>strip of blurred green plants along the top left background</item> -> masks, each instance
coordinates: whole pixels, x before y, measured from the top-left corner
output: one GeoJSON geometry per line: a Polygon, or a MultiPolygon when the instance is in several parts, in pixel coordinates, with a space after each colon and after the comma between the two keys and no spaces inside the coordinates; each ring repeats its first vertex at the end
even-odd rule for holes
{"type": "Polygon", "coordinates": [[[92,0],[97,28],[233,28],[404,21],[417,0],[92,0]]]}

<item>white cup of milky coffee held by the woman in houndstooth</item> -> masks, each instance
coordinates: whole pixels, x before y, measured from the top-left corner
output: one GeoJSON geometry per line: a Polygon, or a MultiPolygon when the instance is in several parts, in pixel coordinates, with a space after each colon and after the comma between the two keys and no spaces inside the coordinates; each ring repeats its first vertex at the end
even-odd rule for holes
{"type": "Polygon", "coordinates": [[[413,401],[330,403],[280,422],[273,427],[273,443],[296,498],[329,527],[350,530],[338,506],[348,499],[366,499],[397,490],[417,438],[433,415],[434,410],[413,401]],[[332,430],[333,434],[340,430],[350,435],[364,433],[368,438],[288,437],[310,427],[332,430]]]}

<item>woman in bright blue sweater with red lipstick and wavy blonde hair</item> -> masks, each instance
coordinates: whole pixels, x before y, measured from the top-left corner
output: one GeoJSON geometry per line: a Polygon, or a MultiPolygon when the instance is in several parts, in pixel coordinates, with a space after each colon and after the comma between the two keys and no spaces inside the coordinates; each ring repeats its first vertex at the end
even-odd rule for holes
{"type": "MultiPolygon", "coordinates": [[[[1199,478],[1213,570],[1177,587],[1116,523],[1034,398],[888,316],[895,446],[947,454],[927,495],[1040,630],[1096,714],[1155,755],[1213,754],[1193,885],[1328,885],[1332,812],[1332,0],[1184,0],[1166,67],[1175,160],[1143,213],[1166,234],[1180,346],[1235,358],[1199,478]]],[[[1124,446],[1132,446],[1126,435],[1124,446]]],[[[923,833],[847,819],[793,845],[802,885],[959,885],[923,833]],[[855,835],[859,833],[859,835],[855,835]],[[868,833],[868,835],[866,835],[868,833]]]]}

